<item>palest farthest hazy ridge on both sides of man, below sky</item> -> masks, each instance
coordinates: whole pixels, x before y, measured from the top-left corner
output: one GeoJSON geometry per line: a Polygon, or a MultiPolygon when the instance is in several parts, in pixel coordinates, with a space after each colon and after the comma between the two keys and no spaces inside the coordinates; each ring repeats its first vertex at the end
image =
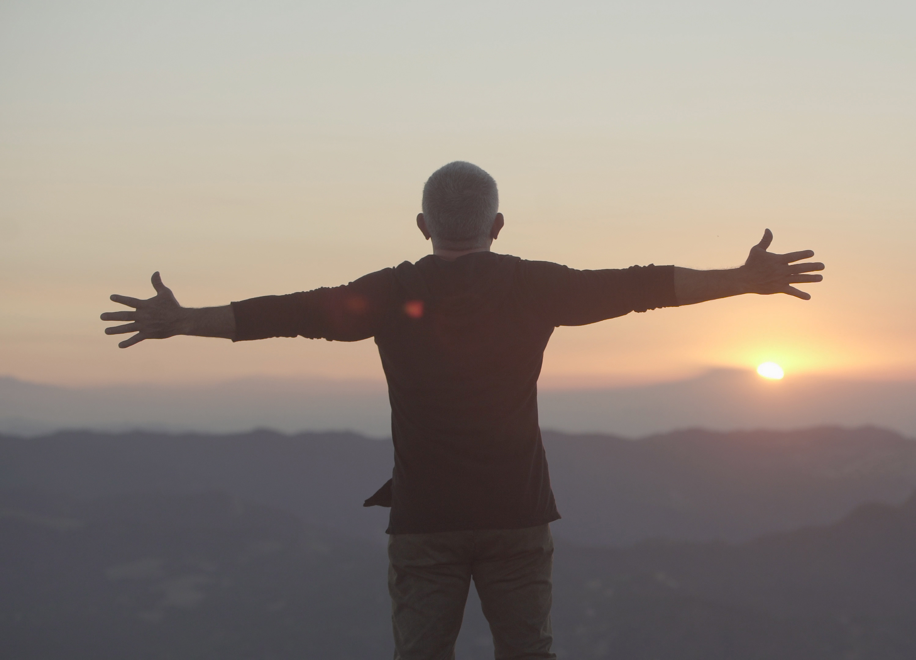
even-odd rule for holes
{"type": "MultiPolygon", "coordinates": [[[[916,382],[789,374],[766,381],[716,370],[671,383],[539,393],[541,427],[626,437],[704,427],[790,429],[873,425],[916,436],[916,382]]],[[[134,428],[227,433],[349,429],[390,435],[385,385],[251,378],[213,385],[68,388],[0,377],[0,433],[134,428]]]]}

